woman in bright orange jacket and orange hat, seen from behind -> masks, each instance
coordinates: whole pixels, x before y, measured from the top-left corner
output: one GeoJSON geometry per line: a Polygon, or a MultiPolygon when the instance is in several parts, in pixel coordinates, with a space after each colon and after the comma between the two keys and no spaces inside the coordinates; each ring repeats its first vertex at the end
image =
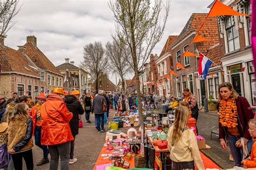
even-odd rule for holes
{"type": "Polygon", "coordinates": [[[74,140],[69,121],[73,114],[66,108],[64,97],[62,88],[53,89],[41,106],[41,144],[48,145],[51,155],[50,170],[58,169],[59,157],[60,169],[69,169],[70,141],[74,140]]]}

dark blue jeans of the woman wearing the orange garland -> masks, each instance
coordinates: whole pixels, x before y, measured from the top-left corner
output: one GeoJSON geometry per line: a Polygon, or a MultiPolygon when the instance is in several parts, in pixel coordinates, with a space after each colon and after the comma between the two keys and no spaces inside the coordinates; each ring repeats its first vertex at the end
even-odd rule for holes
{"type": "MultiPolygon", "coordinates": [[[[241,147],[235,146],[235,142],[237,142],[240,138],[241,137],[239,137],[239,136],[234,136],[234,135],[228,134],[228,144],[230,145],[230,151],[231,151],[232,157],[234,159],[235,166],[241,166],[242,155],[244,154],[242,152],[241,147]]],[[[247,142],[248,152],[251,152],[252,145],[253,145],[253,141],[249,140],[247,142]]]]}

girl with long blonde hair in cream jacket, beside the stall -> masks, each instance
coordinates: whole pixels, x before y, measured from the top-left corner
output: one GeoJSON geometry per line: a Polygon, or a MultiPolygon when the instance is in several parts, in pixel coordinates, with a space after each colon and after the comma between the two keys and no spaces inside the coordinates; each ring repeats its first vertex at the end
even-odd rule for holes
{"type": "Polygon", "coordinates": [[[199,170],[205,169],[200,157],[196,135],[186,127],[188,113],[187,107],[177,107],[174,124],[168,132],[167,140],[172,169],[194,169],[194,163],[199,170]]]}

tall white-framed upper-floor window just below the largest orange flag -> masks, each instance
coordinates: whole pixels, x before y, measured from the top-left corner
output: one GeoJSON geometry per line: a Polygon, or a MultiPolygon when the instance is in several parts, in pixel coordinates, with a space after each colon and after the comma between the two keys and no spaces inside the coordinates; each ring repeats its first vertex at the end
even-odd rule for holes
{"type": "Polygon", "coordinates": [[[228,52],[239,49],[238,30],[235,29],[234,17],[225,18],[228,52]]]}

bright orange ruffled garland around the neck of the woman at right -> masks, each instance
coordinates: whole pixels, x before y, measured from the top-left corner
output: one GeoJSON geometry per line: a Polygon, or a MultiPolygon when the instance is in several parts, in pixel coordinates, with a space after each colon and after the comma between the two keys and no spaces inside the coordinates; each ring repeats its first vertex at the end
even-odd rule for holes
{"type": "Polygon", "coordinates": [[[220,100],[219,122],[225,127],[237,126],[237,104],[234,99],[220,100]]]}

